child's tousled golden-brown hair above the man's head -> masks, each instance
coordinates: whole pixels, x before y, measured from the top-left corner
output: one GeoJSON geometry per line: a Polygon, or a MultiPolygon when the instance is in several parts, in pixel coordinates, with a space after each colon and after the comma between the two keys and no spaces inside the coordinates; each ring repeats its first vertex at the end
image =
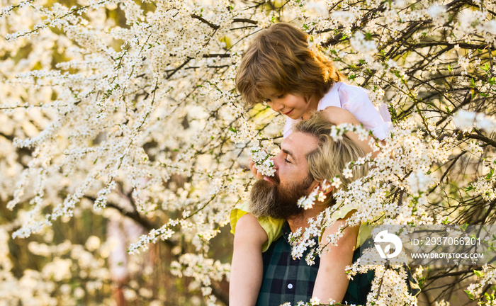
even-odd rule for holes
{"type": "Polygon", "coordinates": [[[322,52],[310,50],[308,38],[288,23],[261,30],[244,53],[236,75],[237,91],[248,106],[265,101],[267,89],[320,100],[335,81],[344,79],[322,52]]]}

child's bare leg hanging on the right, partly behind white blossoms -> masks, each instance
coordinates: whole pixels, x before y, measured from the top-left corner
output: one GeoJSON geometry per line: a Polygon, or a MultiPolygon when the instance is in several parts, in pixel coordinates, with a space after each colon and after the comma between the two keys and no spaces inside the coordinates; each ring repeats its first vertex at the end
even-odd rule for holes
{"type": "MultiPolygon", "coordinates": [[[[327,227],[321,243],[323,245],[327,244],[327,236],[335,234],[344,223],[344,219],[339,219],[330,227],[327,227]]],[[[327,304],[329,299],[342,302],[349,283],[344,269],[346,266],[351,265],[353,261],[358,234],[358,226],[346,227],[343,237],[339,238],[337,242],[337,246],[330,246],[329,251],[322,252],[312,294],[312,297],[318,297],[322,304],[327,304]]]]}

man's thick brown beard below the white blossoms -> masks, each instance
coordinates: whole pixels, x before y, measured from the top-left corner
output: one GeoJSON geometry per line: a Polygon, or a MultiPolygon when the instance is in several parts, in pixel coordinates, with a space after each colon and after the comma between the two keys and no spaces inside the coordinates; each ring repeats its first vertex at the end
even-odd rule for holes
{"type": "Polygon", "coordinates": [[[288,219],[300,215],[303,208],[298,207],[298,199],[307,196],[305,191],[313,182],[311,176],[303,181],[281,186],[278,177],[271,178],[276,183],[259,180],[250,192],[250,212],[255,217],[274,217],[288,219]]]}

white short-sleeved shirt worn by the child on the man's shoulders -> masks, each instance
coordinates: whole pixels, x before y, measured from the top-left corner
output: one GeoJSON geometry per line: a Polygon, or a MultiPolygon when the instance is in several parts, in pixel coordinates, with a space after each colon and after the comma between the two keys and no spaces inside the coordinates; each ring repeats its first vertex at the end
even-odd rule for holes
{"type": "MultiPolygon", "coordinates": [[[[344,108],[355,116],[363,125],[363,128],[372,130],[373,135],[380,140],[388,136],[388,132],[393,128],[391,116],[388,108],[384,103],[374,106],[371,99],[368,98],[367,91],[359,86],[336,82],[331,90],[320,99],[317,111],[322,111],[327,106],[337,106],[344,108]]],[[[284,138],[293,132],[293,125],[300,122],[301,119],[293,120],[286,118],[284,126],[284,138]]]]}

